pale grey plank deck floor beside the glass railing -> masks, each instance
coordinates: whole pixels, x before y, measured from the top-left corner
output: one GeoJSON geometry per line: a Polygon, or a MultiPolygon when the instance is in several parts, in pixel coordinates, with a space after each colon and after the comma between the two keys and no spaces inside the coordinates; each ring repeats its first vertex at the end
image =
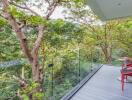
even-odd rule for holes
{"type": "Polygon", "coordinates": [[[132,100],[132,83],[121,91],[120,68],[103,66],[70,100],[132,100]]]}

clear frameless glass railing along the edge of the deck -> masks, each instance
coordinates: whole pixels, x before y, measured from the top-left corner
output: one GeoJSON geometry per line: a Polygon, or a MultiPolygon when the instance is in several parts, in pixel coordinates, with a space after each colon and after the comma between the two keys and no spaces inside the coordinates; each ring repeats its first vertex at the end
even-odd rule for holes
{"type": "Polygon", "coordinates": [[[67,54],[54,56],[45,66],[44,100],[60,100],[89,73],[102,66],[99,51],[84,55],[83,49],[78,49],[67,51],[67,54]]]}

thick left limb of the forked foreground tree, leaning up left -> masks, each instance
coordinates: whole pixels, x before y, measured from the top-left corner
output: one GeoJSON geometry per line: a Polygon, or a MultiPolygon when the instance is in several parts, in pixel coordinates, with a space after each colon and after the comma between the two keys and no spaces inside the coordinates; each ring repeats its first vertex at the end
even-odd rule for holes
{"type": "Polygon", "coordinates": [[[12,29],[16,32],[17,38],[20,41],[21,48],[22,48],[25,56],[27,56],[29,62],[31,63],[33,59],[32,59],[30,50],[28,49],[26,36],[19,28],[19,25],[17,24],[15,18],[8,12],[8,10],[7,10],[9,7],[8,0],[2,0],[2,3],[3,3],[3,11],[4,11],[4,14],[6,15],[7,21],[12,26],[12,29]]]}

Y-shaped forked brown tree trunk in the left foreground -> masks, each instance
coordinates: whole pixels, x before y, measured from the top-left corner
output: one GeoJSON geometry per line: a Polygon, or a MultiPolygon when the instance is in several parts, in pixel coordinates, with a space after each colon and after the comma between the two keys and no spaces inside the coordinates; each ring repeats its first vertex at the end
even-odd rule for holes
{"type": "Polygon", "coordinates": [[[31,91],[30,93],[29,98],[30,100],[32,100],[33,93],[42,91],[41,83],[43,82],[43,73],[42,73],[42,68],[40,68],[39,61],[38,61],[38,51],[42,41],[44,27],[39,26],[38,37],[33,46],[33,50],[32,51],[29,50],[25,34],[21,31],[21,28],[19,27],[15,18],[10,14],[10,12],[8,12],[8,7],[9,7],[8,0],[2,0],[2,3],[4,6],[3,8],[4,16],[6,17],[9,24],[12,26],[12,29],[15,31],[17,35],[17,39],[20,41],[21,49],[24,55],[27,57],[30,65],[32,66],[33,81],[39,84],[39,86],[35,90],[31,91]]]}

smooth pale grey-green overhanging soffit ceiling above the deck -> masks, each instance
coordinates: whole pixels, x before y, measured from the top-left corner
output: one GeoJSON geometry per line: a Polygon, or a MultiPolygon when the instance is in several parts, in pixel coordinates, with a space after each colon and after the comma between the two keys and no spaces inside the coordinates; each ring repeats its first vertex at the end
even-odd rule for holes
{"type": "Polygon", "coordinates": [[[101,20],[132,16],[132,0],[87,0],[101,20]]]}

